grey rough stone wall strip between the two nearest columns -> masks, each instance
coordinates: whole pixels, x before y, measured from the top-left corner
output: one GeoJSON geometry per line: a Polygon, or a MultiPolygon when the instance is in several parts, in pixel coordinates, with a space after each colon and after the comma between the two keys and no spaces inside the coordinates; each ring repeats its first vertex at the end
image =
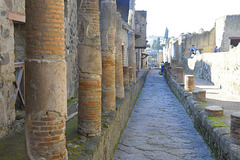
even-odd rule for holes
{"type": "Polygon", "coordinates": [[[75,97],[78,89],[77,67],[77,0],[64,1],[65,53],[67,62],[67,96],[75,97]]]}

